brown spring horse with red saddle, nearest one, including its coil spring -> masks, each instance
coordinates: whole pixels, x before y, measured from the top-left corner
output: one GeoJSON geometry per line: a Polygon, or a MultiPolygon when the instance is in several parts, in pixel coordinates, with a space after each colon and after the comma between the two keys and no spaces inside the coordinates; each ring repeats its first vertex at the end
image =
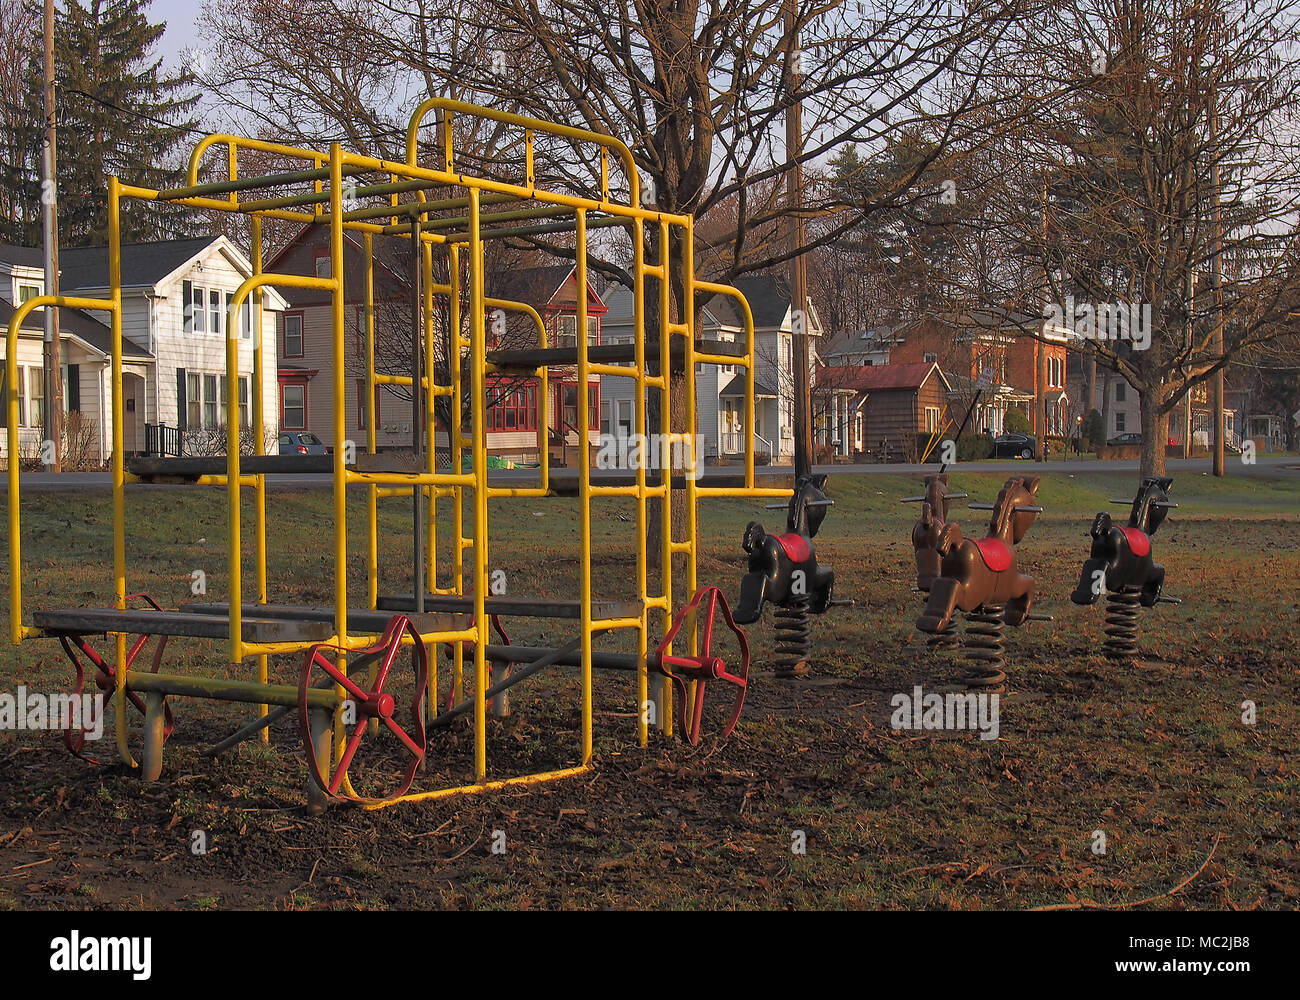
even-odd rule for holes
{"type": "Polygon", "coordinates": [[[1050,620],[1049,615],[1030,612],[1034,577],[1022,575],[1015,563],[1015,545],[1043,512],[1035,503],[1037,489],[1036,476],[1017,476],[1006,481],[994,503],[971,503],[971,510],[993,512],[983,538],[963,538],[952,521],[939,532],[935,547],[941,573],[930,585],[930,599],[916,628],[941,635],[958,610],[966,612],[963,646],[971,667],[965,680],[970,688],[1002,689],[1004,624],[1019,627],[1027,620],[1050,620]]]}

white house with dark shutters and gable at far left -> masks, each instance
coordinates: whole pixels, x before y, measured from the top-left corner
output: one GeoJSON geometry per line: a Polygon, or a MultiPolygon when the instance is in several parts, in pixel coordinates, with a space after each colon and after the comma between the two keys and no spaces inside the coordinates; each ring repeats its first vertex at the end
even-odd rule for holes
{"type": "MultiPolygon", "coordinates": [[[[0,247],[0,322],[14,303],[44,294],[40,251],[0,247]]],[[[157,427],[178,429],[196,442],[225,425],[226,309],[252,273],[248,259],[226,237],[200,237],[122,246],[122,443],[126,454],[155,447],[157,427]],[[148,430],[147,430],[148,428],[148,430]]],[[[108,248],[60,251],[60,291],[108,295],[108,248]]],[[[276,316],[286,302],[268,290],[263,308],[263,399],[269,440],[278,430],[276,316]]],[[[112,365],[107,312],[60,309],[64,406],[82,414],[94,432],[92,455],[107,462],[112,447],[112,365]]],[[[42,341],[44,319],[31,315],[20,338],[20,443],[35,446],[44,406],[42,341]]],[[[244,424],[252,411],[254,330],[246,304],[239,321],[238,399],[244,424]]]]}

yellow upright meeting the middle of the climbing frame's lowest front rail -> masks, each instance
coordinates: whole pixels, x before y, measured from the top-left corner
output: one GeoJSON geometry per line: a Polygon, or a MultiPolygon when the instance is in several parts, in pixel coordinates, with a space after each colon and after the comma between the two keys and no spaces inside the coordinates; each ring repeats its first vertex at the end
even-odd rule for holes
{"type": "MultiPolygon", "coordinates": [[[[450,126],[448,126],[450,135],[450,126]]],[[[450,142],[450,140],[448,140],[450,142]]],[[[450,150],[450,146],[448,146],[450,150]]],[[[474,780],[488,775],[488,434],[485,420],[486,330],[484,329],[484,244],[478,189],[469,189],[469,378],[474,463],[474,780]]],[[[455,365],[454,365],[455,367],[455,365]]]]}

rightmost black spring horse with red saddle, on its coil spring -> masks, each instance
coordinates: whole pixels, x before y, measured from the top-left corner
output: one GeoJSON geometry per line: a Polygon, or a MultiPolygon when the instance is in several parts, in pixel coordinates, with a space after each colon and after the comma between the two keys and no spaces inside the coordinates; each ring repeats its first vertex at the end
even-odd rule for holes
{"type": "Polygon", "coordinates": [[[1128,524],[1114,524],[1105,511],[1092,521],[1092,551],[1083,563],[1079,585],[1070,599],[1076,605],[1093,605],[1098,597],[1106,596],[1102,650],[1112,659],[1130,659],[1138,654],[1138,605],[1180,603],[1176,597],[1161,593],[1165,567],[1150,554],[1150,536],[1170,507],[1178,506],[1169,499],[1173,485],[1171,477],[1148,476],[1131,501],[1110,501],[1131,505],[1128,524]]]}

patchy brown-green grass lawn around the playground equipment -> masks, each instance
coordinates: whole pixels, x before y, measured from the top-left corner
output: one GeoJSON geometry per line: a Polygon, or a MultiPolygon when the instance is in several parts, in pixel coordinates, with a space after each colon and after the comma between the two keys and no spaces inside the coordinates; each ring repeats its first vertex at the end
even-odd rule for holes
{"type": "MultiPolygon", "coordinates": [[[[1019,546],[1022,571],[1037,580],[1036,610],[1056,618],[1008,629],[997,740],[890,727],[892,696],[952,685],[962,663],[926,651],[913,628],[918,511],[898,498],[915,493],[916,480],[846,475],[828,484],[836,506],[816,544],[836,570],[837,596],[857,605],[815,623],[807,680],[772,676],[771,611],[749,629],[753,683],[728,741],[706,733],[690,748],[655,736],[637,748],[630,679],[598,674],[593,772],[311,819],[300,809],[294,714],[273,727],[269,746],[213,759],[204,748],[237,728],[246,706],[174,700],[178,726],[152,785],[121,766],[72,758],[53,733],[4,732],[0,906],[970,909],[1153,897],[1144,905],[1296,908],[1296,480],[1175,479],[1182,506],[1156,536],[1154,555],[1166,593],[1183,603],[1144,610],[1144,657],[1114,663],[1100,655],[1102,609],[1075,607],[1069,592],[1093,515],[1122,515],[1105,501],[1131,495],[1136,476],[1071,475],[1065,464],[1044,479],[1046,512],[1019,546]],[[1243,723],[1245,701],[1253,724],[1243,723]],[[205,854],[191,853],[195,831],[208,839],[205,854]],[[1095,850],[1098,831],[1104,853],[1095,850]],[[797,843],[806,853],[792,852],[797,843]]],[[[953,486],[991,501],[1002,479],[958,467],[953,486]]],[[[191,599],[191,573],[202,570],[209,599],[222,599],[224,503],[221,490],[130,493],[129,589],[174,607],[191,599]]],[[[382,503],[381,592],[410,592],[408,508],[382,503]]],[[[329,603],[330,493],[276,492],[268,510],[270,598],[329,603]]],[[[494,501],[489,563],[506,571],[508,594],[577,596],[577,510],[571,498],[494,501]]],[[[636,596],[630,512],[621,499],[597,505],[597,597],[636,596]]],[[[446,503],[442,514],[446,566],[446,503]]],[[[954,514],[967,533],[987,516],[954,514]]],[[[246,515],[251,524],[251,507],[246,515]]],[[[350,585],[359,605],[363,515],[358,493],[350,585]]],[[[775,528],[783,515],[760,502],[702,505],[702,584],[737,593],[750,519],[775,528]]],[[[110,602],[110,524],[107,493],[23,499],[29,620],[36,607],[110,602]]],[[[247,558],[246,588],[251,580],[247,558]]],[[[0,596],[8,602],[6,586],[0,596]]],[[[685,594],[675,597],[680,606],[685,594]]],[[[526,645],[563,642],[572,631],[523,619],[507,627],[526,645]]],[[[173,641],[164,668],[250,675],[251,666],[222,658],[220,644],[173,641]]],[[[286,681],[296,671],[291,658],[273,664],[286,681]]],[[[70,681],[51,640],[0,649],[0,692],[70,681]]],[[[489,776],[575,763],[577,691],[573,670],[517,687],[511,718],[489,723],[489,776]]],[[[96,753],[112,757],[109,743],[96,753]]],[[[416,787],[467,780],[471,748],[464,728],[432,736],[416,787]]]]}

